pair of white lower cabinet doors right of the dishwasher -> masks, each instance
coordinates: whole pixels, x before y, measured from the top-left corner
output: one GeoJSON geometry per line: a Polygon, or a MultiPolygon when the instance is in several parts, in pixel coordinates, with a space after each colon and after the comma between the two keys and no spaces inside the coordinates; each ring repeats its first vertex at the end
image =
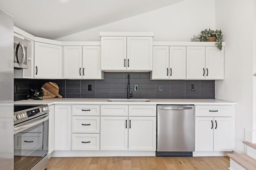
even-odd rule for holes
{"type": "Polygon", "coordinates": [[[195,151],[232,151],[232,117],[196,117],[195,151]]]}

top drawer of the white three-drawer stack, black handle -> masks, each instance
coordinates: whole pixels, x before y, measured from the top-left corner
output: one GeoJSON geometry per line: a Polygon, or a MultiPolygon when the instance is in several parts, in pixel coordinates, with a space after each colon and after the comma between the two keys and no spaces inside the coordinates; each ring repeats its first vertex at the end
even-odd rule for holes
{"type": "Polygon", "coordinates": [[[100,105],[72,105],[73,116],[99,116],[100,105]]]}

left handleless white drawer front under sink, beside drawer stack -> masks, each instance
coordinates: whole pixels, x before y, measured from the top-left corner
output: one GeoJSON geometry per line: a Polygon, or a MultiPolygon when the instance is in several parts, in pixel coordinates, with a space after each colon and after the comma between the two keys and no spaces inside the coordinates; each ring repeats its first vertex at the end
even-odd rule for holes
{"type": "Polygon", "coordinates": [[[102,116],[128,116],[128,105],[101,105],[102,116]]]}

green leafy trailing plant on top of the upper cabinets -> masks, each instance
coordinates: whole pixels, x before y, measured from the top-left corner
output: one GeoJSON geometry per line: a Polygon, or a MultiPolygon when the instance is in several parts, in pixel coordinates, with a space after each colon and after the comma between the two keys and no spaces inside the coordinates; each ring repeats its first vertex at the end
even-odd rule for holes
{"type": "Polygon", "coordinates": [[[219,50],[222,50],[222,31],[221,30],[211,30],[205,29],[204,31],[200,32],[200,41],[207,41],[210,37],[216,37],[216,43],[215,45],[219,50]]]}

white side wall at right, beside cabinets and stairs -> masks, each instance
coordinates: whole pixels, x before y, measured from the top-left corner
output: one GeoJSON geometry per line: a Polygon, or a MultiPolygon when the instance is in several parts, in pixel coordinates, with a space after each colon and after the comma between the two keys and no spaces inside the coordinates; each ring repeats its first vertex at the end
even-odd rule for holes
{"type": "Polygon", "coordinates": [[[215,98],[237,102],[235,150],[244,152],[244,129],[252,131],[253,0],[216,0],[216,29],[222,29],[225,79],[216,81],[215,98]]]}

